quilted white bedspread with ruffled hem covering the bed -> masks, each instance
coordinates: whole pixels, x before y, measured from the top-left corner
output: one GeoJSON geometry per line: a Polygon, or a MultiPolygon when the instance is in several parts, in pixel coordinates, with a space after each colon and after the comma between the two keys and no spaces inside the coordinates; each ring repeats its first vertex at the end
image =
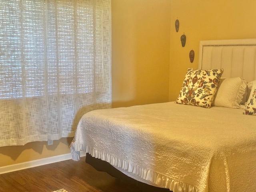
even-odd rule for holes
{"type": "Polygon", "coordinates": [[[255,192],[256,117],[242,112],[174,102],[95,110],[71,150],[174,192],[255,192]]]}

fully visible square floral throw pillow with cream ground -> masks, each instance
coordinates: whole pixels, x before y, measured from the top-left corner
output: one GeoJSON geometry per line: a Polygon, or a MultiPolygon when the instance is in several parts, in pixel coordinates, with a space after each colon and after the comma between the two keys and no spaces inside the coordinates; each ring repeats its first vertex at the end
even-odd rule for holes
{"type": "Polygon", "coordinates": [[[210,108],[222,73],[223,69],[188,68],[180,94],[175,102],[210,108]]]}

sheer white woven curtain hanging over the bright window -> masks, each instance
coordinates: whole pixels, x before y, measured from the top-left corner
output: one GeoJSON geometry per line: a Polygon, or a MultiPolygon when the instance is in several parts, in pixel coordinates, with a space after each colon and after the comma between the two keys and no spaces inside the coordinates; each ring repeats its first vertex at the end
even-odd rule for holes
{"type": "Polygon", "coordinates": [[[111,107],[111,0],[0,0],[0,147],[111,107]]]}

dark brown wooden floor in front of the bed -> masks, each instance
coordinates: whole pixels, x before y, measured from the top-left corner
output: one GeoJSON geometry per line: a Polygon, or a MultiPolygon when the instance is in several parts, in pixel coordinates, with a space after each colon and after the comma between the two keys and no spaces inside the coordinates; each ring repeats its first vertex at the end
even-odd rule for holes
{"type": "Polygon", "coordinates": [[[0,175],[0,192],[140,192],[136,186],[98,172],[85,162],[63,162],[0,175]]]}

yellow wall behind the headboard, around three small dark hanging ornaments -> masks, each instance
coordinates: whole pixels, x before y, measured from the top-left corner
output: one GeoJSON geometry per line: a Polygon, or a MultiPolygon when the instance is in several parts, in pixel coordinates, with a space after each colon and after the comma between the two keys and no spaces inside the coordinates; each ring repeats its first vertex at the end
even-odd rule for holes
{"type": "Polygon", "coordinates": [[[187,68],[198,68],[200,40],[256,38],[255,8],[255,0],[171,0],[170,101],[177,98],[187,68]],[[185,47],[182,34],[187,37],[185,47]],[[195,60],[190,63],[192,49],[195,60]]]}

